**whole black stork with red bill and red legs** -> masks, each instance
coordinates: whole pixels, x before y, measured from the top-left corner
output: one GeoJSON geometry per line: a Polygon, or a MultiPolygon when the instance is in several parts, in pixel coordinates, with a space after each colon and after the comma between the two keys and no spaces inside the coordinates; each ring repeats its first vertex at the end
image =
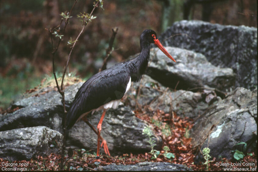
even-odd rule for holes
{"type": "Polygon", "coordinates": [[[109,69],[101,71],[90,77],[77,91],[70,110],[66,115],[66,128],[70,129],[75,122],[83,119],[98,135],[96,159],[99,159],[100,139],[106,154],[110,156],[106,141],[100,136],[101,125],[108,108],[117,108],[120,99],[131,86],[131,82],[138,82],[148,66],[150,56],[150,43],[154,43],[171,60],[176,62],[157,39],[157,34],[150,29],[142,32],[140,38],[141,53],[126,62],[121,62],[109,69]],[[103,109],[102,116],[96,131],[88,122],[86,116],[92,111],[103,109]]]}

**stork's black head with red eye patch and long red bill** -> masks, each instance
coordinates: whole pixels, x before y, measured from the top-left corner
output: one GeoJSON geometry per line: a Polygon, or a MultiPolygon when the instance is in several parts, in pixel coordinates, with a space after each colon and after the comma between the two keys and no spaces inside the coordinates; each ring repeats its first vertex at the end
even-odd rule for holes
{"type": "Polygon", "coordinates": [[[157,38],[157,34],[154,30],[151,30],[151,29],[144,30],[141,35],[141,42],[142,40],[146,40],[149,43],[154,43],[168,58],[176,62],[176,60],[173,59],[173,57],[167,52],[164,46],[159,42],[157,38]]]}

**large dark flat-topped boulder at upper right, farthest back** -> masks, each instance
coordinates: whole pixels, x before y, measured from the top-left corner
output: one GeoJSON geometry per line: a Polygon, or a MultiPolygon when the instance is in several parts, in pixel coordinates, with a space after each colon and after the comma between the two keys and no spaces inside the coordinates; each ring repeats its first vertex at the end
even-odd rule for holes
{"type": "Polygon", "coordinates": [[[235,87],[257,87],[257,28],[183,20],[158,38],[165,46],[202,53],[215,66],[231,67],[237,74],[235,87]]]}

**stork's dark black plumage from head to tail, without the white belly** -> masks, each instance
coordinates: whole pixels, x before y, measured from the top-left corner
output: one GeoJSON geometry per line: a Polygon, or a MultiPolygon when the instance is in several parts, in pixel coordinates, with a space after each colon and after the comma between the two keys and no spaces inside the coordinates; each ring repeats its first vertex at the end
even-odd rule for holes
{"type": "Polygon", "coordinates": [[[66,115],[67,129],[70,129],[85,112],[96,109],[109,101],[121,99],[130,77],[133,82],[141,80],[148,66],[150,43],[154,43],[152,36],[145,39],[146,34],[156,35],[153,30],[145,30],[142,33],[141,53],[137,57],[93,75],[79,88],[66,115]]]}

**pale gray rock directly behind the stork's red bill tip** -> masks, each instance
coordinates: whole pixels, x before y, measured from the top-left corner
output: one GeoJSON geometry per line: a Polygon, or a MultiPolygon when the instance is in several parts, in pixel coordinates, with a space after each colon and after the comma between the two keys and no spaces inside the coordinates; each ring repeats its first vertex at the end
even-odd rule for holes
{"type": "Polygon", "coordinates": [[[151,50],[146,73],[164,86],[170,88],[177,86],[177,89],[183,90],[211,87],[226,92],[234,88],[235,74],[232,69],[215,67],[200,53],[181,48],[166,47],[166,49],[177,63],[155,48],[151,50]]]}

